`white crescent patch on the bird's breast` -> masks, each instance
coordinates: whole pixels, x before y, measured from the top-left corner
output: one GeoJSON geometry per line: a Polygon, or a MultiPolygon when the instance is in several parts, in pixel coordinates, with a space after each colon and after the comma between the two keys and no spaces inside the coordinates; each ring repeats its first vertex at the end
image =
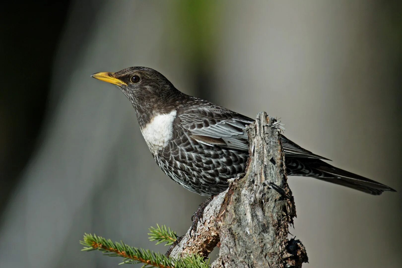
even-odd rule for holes
{"type": "Polygon", "coordinates": [[[156,115],[143,129],[141,129],[145,142],[152,153],[157,153],[165,147],[172,137],[173,120],[176,118],[176,110],[168,114],[156,115]]]}

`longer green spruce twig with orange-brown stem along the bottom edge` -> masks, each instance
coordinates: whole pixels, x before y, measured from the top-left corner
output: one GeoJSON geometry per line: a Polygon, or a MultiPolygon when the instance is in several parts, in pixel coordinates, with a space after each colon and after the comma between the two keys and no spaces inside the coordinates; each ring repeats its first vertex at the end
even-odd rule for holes
{"type": "MultiPolygon", "coordinates": [[[[173,232],[170,231],[170,233],[173,232]]],[[[175,260],[159,252],[134,248],[123,243],[123,241],[113,243],[111,239],[87,233],[84,234],[84,239],[80,243],[84,245],[82,251],[99,250],[106,256],[124,258],[120,264],[143,263],[143,268],[209,268],[209,261],[205,262],[203,257],[199,255],[192,254],[175,260]]]]}

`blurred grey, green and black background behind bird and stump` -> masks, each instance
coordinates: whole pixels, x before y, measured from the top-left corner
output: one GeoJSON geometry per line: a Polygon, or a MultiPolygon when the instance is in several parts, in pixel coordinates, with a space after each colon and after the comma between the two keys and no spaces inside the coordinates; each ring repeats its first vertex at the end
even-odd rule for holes
{"type": "Polygon", "coordinates": [[[290,177],[303,267],[399,267],[400,1],[31,1],[2,4],[0,267],[116,267],[84,232],[165,252],[203,201],[168,179],[130,102],[90,78],[147,66],[387,184],[371,196],[290,177]]]}

